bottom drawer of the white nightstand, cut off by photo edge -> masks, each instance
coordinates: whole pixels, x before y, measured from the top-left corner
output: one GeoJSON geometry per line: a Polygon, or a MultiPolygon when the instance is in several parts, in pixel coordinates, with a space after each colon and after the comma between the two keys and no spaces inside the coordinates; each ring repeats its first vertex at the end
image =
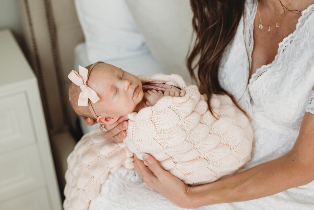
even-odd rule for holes
{"type": "Polygon", "coordinates": [[[45,188],[27,193],[26,195],[16,197],[3,203],[0,202],[0,209],[52,210],[52,208],[49,207],[48,196],[45,188]]]}

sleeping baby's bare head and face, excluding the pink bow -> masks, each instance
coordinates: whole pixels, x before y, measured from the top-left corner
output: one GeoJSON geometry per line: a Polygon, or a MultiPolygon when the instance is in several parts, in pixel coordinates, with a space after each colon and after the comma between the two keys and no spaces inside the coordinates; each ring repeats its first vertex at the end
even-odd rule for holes
{"type": "Polygon", "coordinates": [[[100,124],[112,124],[119,117],[133,112],[144,95],[138,77],[111,64],[97,63],[90,70],[91,66],[85,68],[90,71],[87,85],[100,98],[95,103],[90,101],[91,109],[94,110],[97,118],[88,106],[78,106],[79,94],[82,90],[72,82],[69,87],[69,100],[74,111],[81,117],[95,119],[100,124]]]}

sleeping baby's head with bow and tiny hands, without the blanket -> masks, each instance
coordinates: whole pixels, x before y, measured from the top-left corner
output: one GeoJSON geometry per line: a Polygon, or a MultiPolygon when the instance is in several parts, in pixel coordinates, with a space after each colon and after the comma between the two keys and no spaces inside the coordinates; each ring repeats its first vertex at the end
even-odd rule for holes
{"type": "MultiPolygon", "coordinates": [[[[91,65],[88,67],[90,68],[91,65]]],[[[79,71],[80,74],[85,72],[87,76],[88,69],[79,66],[79,71]]],[[[93,66],[88,81],[85,82],[88,82],[88,86],[83,84],[75,71],[69,74],[69,78],[73,81],[69,87],[69,100],[74,111],[79,116],[95,119],[100,124],[113,124],[121,116],[153,106],[164,95],[184,96],[185,94],[184,90],[161,83],[155,84],[159,91],[148,90],[154,87],[154,84],[150,84],[145,86],[144,93],[138,77],[103,62],[93,66]],[[82,87],[84,91],[81,93],[82,87]],[[88,94],[92,97],[92,103],[88,102],[88,94]],[[85,99],[84,102],[82,98],[85,99]]]]}

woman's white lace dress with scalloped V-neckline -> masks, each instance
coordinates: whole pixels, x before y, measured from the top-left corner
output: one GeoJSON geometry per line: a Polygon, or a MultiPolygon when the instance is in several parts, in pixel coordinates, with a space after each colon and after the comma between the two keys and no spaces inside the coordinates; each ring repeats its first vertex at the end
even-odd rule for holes
{"type": "MultiPolygon", "coordinates": [[[[314,4],[279,43],[274,61],[257,69],[247,85],[256,11],[257,1],[248,1],[219,71],[221,86],[249,114],[254,129],[252,159],[243,170],[289,152],[304,113],[314,114],[314,4]]],[[[181,208],[148,187],[137,172],[121,168],[109,175],[89,209],[181,208]]],[[[198,209],[314,209],[314,182],[256,200],[198,209]]]]}

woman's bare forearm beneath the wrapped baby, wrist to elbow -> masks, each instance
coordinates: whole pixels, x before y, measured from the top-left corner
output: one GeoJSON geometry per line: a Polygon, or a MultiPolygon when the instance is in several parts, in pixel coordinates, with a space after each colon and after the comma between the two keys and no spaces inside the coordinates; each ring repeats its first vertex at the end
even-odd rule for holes
{"type": "Polygon", "coordinates": [[[191,199],[199,207],[252,200],[305,185],[313,180],[313,167],[297,157],[290,152],[229,178],[193,187],[191,199]]]}

